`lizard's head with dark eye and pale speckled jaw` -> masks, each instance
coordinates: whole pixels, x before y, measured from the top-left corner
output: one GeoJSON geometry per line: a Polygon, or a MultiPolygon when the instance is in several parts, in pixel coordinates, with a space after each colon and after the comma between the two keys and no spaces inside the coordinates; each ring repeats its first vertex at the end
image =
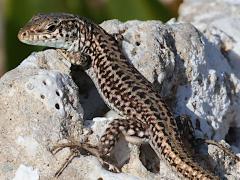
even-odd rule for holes
{"type": "Polygon", "coordinates": [[[20,29],[18,39],[26,44],[77,51],[80,25],[81,20],[72,14],[38,14],[20,29]]]}

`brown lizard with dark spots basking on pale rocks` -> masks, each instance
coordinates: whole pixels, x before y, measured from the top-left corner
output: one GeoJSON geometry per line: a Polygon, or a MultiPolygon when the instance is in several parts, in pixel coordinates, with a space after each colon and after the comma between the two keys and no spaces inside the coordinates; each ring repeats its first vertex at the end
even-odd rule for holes
{"type": "MultiPolygon", "coordinates": [[[[38,14],[20,29],[18,38],[26,44],[59,49],[67,60],[85,70],[106,104],[121,115],[109,123],[92,151],[102,164],[108,164],[104,158],[124,135],[130,143],[149,143],[179,177],[220,179],[190,155],[170,108],[127,60],[116,38],[99,25],[67,13],[38,14]]],[[[77,146],[91,151],[90,146],[77,146]]]]}

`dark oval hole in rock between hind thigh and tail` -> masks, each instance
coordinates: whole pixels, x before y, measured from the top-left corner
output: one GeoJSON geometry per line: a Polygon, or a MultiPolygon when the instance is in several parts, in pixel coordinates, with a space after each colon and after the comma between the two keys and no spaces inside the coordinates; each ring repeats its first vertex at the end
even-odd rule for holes
{"type": "Polygon", "coordinates": [[[140,146],[139,159],[148,171],[159,173],[160,159],[149,144],[142,144],[140,146]]]}

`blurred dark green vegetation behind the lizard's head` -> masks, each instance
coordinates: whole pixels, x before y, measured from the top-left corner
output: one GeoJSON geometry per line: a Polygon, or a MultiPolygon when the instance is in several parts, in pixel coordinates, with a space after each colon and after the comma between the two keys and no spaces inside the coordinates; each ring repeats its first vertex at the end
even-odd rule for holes
{"type": "Polygon", "coordinates": [[[37,13],[67,12],[85,16],[97,23],[108,19],[166,21],[173,17],[158,0],[6,0],[7,69],[16,67],[31,52],[43,47],[18,41],[18,30],[37,13]]]}

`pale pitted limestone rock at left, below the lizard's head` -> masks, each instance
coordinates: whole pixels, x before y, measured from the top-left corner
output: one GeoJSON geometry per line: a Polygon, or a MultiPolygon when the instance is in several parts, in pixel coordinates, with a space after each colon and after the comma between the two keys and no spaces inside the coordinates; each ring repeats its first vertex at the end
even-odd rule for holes
{"type": "Polygon", "coordinates": [[[52,177],[59,166],[48,148],[82,133],[78,88],[57,57],[34,53],[0,80],[0,179],[52,177]]]}

